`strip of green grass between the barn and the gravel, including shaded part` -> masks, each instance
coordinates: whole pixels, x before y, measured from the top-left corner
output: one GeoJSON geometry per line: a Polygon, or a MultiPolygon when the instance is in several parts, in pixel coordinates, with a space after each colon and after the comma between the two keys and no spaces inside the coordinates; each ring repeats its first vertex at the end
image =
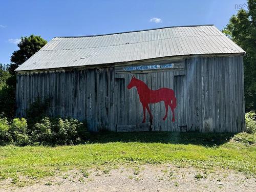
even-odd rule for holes
{"type": "MultiPolygon", "coordinates": [[[[41,178],[69,169],[172,163],[177,167],[226,168],[256,174],[256,146],[230,134],[100,133],[74,146],[0,147],[0,179],[41,178]]],[[[241,134],[239,137],[242,137],[241,134]]],[[[255,135],[252,137],[256,138],[255,135]]],[[[136,169],[137,170],[137,169],[136,169]]],[[[85,173],[85,171],[84,171],[85,173]]],[[[137,172],[136,172],[137,173],[137,172]]]]}

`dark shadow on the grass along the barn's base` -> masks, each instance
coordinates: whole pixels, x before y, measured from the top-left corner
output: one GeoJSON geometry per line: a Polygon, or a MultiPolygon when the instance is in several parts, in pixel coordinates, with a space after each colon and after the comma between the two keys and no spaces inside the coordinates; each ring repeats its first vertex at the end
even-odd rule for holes
{"type": "Polygon", "coordinates": [[[144,142],[214,146],[228,142],[233,135],[233,133],[203,134],[198,132],[100,132],[91,133],[88,141],[89,143],[144,142]]]}

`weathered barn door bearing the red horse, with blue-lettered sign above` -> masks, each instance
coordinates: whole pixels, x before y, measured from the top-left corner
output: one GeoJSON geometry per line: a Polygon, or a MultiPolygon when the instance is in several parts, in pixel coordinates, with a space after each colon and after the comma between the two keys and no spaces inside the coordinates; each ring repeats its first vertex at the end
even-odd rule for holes
{"type": "Polygon", "coordinates": [[[116,67],[116,131],[174,131],[177,121],[173,119],[170,102],[176,102],[172,98],[177,75],[184,75],[184,63],[116,67]]]}

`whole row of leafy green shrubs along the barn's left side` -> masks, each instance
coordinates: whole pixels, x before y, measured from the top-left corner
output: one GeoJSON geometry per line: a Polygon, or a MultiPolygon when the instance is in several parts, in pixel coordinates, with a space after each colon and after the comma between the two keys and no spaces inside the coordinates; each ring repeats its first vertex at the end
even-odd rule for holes
{"type": "Polygon", "coordinates": [[[76,119],[45,117],[28,126],[25,118],[15,118],[10,123],[0,115],[0,144],[74,144],[88,134],[85,124],[76,119]]]}

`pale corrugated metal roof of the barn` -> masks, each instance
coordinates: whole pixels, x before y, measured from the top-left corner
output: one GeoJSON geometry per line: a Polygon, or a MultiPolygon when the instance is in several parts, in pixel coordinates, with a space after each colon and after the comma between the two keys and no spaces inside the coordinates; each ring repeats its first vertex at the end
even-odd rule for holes
{"type": "Polygon", "coordinates": [[[245,53],[213,25],[55,37],[16,71],[78,67],[166,56],[245,53]]]}

